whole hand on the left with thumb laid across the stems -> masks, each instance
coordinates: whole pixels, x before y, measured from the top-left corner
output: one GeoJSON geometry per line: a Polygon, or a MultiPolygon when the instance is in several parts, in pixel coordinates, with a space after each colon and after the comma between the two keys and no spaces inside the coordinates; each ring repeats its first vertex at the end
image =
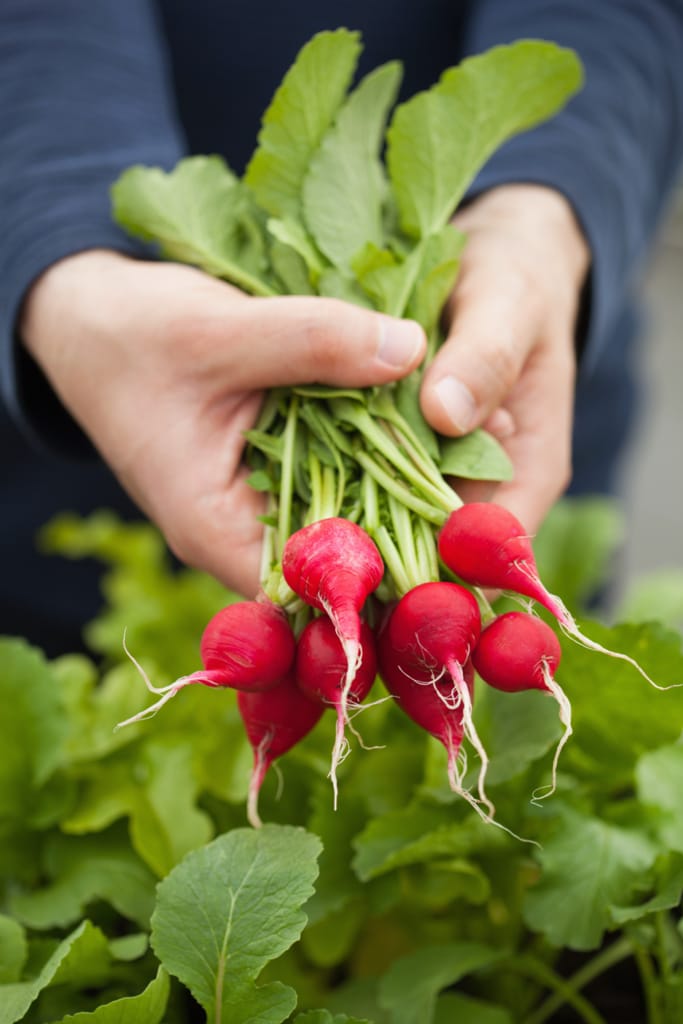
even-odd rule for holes
{"type": "Polygon", "coordinates": [[[410,373],[422,330],[333,299],[251,298],[191,267],[91,250],[32,287],[19,333],[181,561],[252,596],[264,498],[242,464],[267,387],[410,373]]]}

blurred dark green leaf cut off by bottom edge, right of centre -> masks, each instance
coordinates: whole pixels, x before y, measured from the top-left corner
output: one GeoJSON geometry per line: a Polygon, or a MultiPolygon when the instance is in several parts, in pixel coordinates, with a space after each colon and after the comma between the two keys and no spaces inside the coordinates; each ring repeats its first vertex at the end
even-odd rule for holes
{"type": "Polygon", "coordinates": [[[380,981],[380,1006],[389,1011],[391,1024],[424,1024],[433,1020],[441,989],[503,955],[478,942],[425,946],[391,965],[380,981]]]}

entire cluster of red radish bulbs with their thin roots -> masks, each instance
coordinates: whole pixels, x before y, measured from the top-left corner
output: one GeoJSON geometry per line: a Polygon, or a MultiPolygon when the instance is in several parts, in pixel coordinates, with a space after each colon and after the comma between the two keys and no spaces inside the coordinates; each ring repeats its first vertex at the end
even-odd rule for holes
{"type": "Polygon", "coordinates": [[[379,672],[397,707],[443,744],[452,790],[492,821],[488,757],[473,717],[476,672],[498,690],[538,689],[557,701],[564,731],[544,794],[549,796],[571,734],[570,703],[555,679],[560,643],[530,609],[496,614],[480,588],[530,598],[570,638],[597,645],[544,588],[523,527],[502,506],[461,506],[444,519],[437,544],[443,565],[460,583],[425,580],[389,603],[375,597],[371,604],[387,569],[368,531],[343,517],[296,530],[285,544],[281,566],[293,602],[278,603],[261,593],[223,608],[204,631],[203,668],[163,688],[153,686],[129,654],[158,699],[121,725],[153,716],[189,685],[237,690],[254,754],[248,819],[257,826],[258,795],[268,768],[313,729],[326,709],[336,716],[330,778],[337,806],[337,771],[349,749],[346,730],[379,672]],[[475,793],[464,783],[466,750],[478,759],[475,793]]]}

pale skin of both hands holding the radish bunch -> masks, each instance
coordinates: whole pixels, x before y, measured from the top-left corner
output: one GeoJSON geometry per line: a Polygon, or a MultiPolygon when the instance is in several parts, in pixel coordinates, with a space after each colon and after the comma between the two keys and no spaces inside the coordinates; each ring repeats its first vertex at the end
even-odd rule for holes
{"type": "MultiPolygon", "coordinates": [[[[492,189],[455,222],[468,243],[423,411],[444,434],[483,424],[499,436],[515,478],[484,497],[535,532],[570,474],[588,247],[566,201],[535,185],[492,189]]],[[[191,267],[108,250],[45,271],[19,333],[180,560],[247,596],[258,589],[263,499],[246,482],[243,432],[263,390],[382,384],[425,350],[411,322],[332,299],[252,298],[191,267]]],[[[482,497],[480,486],[459,492],[482,497]]]]}

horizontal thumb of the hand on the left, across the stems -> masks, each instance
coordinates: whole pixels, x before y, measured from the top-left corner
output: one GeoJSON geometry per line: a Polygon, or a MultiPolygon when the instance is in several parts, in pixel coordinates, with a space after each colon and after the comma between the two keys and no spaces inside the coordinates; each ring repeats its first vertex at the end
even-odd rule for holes
{"type": "Polygon", "coordinates": [[[283,296],[230,308],[237,388],[318,382],[365,387],[396,380],[422,360],[426,338],[414,321],[338,299],[283,296]]]}

